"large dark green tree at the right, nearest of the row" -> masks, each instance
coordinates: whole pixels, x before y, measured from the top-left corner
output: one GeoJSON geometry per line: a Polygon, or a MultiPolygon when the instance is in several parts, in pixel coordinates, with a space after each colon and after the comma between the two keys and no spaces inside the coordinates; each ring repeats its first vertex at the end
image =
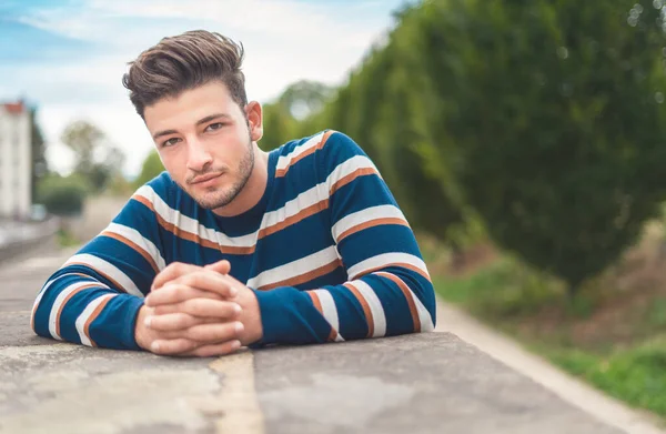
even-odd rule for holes
{"type": "Polygon", "coordinates": [[[464,201],[572,293],[665,196],[662,2],[626,4],[428,1],[414,47],[464,201]]]}

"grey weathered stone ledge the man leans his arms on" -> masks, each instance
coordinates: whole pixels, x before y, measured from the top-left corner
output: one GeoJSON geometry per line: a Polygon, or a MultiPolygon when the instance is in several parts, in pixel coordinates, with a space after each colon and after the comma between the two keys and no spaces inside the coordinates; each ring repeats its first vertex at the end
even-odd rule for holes
{"type": "Polygon", "coordinates": [[[0,433],[623,433],[451,333],[161,357],[41,339],[0,270],[0,433]]]}

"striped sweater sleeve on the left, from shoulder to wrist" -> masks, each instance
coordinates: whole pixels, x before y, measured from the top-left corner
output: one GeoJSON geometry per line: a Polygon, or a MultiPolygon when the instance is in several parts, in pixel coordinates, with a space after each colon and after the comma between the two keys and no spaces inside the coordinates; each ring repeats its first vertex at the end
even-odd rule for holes
{"type": "Polygon", "coordinates": [[[165,265],[153,205],[157,196],[149,184],[139,189],[99,235],[48,279],[32,307],[31,326],[38,335],[139,350],[137,315],[165,265]]]}

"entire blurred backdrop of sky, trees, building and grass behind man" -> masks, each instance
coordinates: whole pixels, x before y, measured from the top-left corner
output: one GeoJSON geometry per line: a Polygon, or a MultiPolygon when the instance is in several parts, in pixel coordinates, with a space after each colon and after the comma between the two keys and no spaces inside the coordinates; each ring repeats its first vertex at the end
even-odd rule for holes
{"type": "Polygon", "coordinates": [[[214,30],[245,46],[262,149],[349,134],[445,302],[666,417],[665,13],[662,0],[3,0],[0,258],[85,242],[163,170],[122,73],[164,36],[214,30]]]}

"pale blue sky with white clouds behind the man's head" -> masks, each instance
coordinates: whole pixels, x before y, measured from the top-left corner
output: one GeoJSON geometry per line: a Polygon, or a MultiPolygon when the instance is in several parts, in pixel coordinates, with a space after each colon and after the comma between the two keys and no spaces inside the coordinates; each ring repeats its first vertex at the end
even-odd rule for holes
{"type": "Polygon", "coordinates": [[[128,62],[167,36],[218,31],[245,49],[248,98],[306,79],[346,81],[407,0],[0,0],[0,102],[38,110],[50,166],[68,173],[64,128],[87,120],[139,173],[154,144],[122,85],[128,62]]]}

